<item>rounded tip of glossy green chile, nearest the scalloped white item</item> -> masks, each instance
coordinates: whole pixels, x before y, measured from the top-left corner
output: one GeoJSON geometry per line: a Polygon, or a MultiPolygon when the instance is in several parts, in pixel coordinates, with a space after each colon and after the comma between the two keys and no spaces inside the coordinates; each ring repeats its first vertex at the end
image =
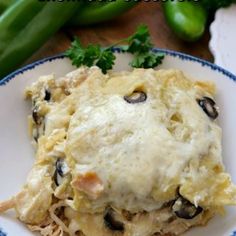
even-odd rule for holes
{"type": "Polygon", "coordinates": [[[166,1],[163,10],[170,28],[185,41],[196,41],[204,33],[208,14],[200,2],[166,1]]]}

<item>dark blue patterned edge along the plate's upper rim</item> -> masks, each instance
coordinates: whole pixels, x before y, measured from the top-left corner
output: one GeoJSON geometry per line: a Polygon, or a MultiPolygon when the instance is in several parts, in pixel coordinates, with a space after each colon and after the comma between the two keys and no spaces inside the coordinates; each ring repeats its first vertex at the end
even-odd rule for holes
{"type": "MultiPolygon", "coordinates": [[[[113,48],[114,52],[117,53],[122,53],[122,50],[119,47],[115,47],[113,48]]],[[[232,74],[231,72],[225,70],[224,68],[217,66],[211,62],[208,62],[206,60],[185,54],[185,53],[181,53],[181,52],[177,52],[177,51],[172,51],[169,49],[160,49],[160,48],[154,48],[153,49],[154,52],[156,53],[163,53],[165,55],[169,55],[169,56],[173,56],[173,57],[178,57],[183,61],[193,61],[193,62],[197,62],[199,64],[201,64],[202,66],[206,66],[208,68],[210,68],[211,70],[215,70],[218,71],[220,73],[222,73],[223,75],[227,76],[229,79],[233,80],[236,82],[236,75],[232,74]]],[[[4,77],[2,80],[0,80],[0,86],[6,85],[10,80],[12,80],[13,78],[15,78],[17,75],[19,74],[23,74],[25,71],[28,70],[32,70],[34,69],[36,66],[44,64],[46,62],[50,62],[53,60],[57,60],[57,59],[63,59],[65,58],[64,53],[61,54],[57,54],[51,57],[46,57],[44,59],[41,59],[39,61],[33,62],[25,67],[22,67],[14,72],[12,72],[11,74],[9,74],[8,76],[4,77]]]]}

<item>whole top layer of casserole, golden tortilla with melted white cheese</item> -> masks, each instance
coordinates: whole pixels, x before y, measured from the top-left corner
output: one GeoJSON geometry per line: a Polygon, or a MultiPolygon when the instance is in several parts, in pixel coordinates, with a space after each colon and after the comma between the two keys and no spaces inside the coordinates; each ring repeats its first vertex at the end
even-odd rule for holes
{"type": "MultiPolygon", "coordinates": [[[[103,75],[97,68],[48,82],[54,102],[47,104],[39,158],[62,155],[71,183],[90,172],[103,185],[91,199],[71,184],[76,210],[91,213],[111,204],[151,211],[175,199],[178,189],[207,208],[236,203],[235,187],[223,172],[221,129],[196,101],[214,96],[212,84],[193,82],[176,70],[103,75]],[[124,96],[137,90],[147,100],[127,103],[124,96]]],[[[45,78],[39,85],[44,83],[45,78]]],[[[34,96],[37,83],[31,90],[34,96]]]]}

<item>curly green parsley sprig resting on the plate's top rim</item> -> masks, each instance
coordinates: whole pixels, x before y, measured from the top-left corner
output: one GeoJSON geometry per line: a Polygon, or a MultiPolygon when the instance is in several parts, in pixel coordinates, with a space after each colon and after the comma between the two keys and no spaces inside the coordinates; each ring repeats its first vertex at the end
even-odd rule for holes
{"type": "Polygon", "coordinates": [[[101,68],[103,73],[106,73],[112,69],[115,63],[116,56],[112,49],[121,43],[127,43],[127,45],[120,46],[120,48],[134,56],[130,62],[132,67],[153,68],[162,63],[164,55],[152,51],[153,44],[146,25],[139,26],[133,35],[107,48],[102,48],[100,45],[83,47],[79,39],[75,38],[65,55],[77,67],[96,65],[101,68]]]}

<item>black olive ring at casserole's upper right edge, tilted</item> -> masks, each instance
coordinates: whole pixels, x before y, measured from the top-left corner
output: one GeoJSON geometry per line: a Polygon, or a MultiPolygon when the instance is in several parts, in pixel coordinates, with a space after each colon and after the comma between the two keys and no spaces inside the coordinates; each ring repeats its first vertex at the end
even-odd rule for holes
{"type": "Polygon", "coordinates": [[[203,109],[203,111],[212,119],[216,119],[219,115],[216,107],[216,103],[209,97],[203,97],[198,99],[198,104],[203,109]]]}

